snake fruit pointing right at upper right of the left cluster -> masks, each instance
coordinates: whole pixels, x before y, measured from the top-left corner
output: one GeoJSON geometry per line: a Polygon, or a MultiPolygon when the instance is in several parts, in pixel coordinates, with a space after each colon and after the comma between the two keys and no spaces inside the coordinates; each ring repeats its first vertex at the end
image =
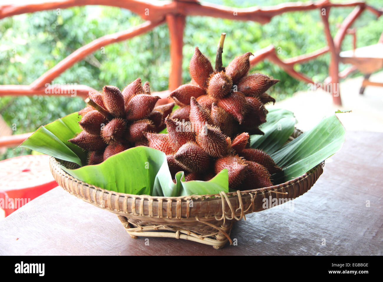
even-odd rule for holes
{"type": "Polygon", "coordinates": [[[160,97],[148,94],[133,96],[128,103],[126,119],[129,121],[144,119],[152,112],[158,99],[160,97]]]}

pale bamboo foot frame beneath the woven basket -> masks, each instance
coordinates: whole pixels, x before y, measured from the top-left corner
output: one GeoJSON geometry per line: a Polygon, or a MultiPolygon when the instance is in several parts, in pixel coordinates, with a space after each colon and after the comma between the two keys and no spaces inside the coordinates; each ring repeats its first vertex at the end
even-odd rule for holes
{"type": "Polygon", "coordinates": [[[131,238],[137,239],[138,237],[167,237],[175,239],[184,239],[189,241],[198,242],[200,244],[213,246],[214,249],[222,249],[229,239],[226,237],[230,235],[232,228],[232,222],[228,224],[221,225],[220,229],[223,230],[226,234],[223,234],[220,231],[200,235],[195,232],[192,232],[185,228],[178,228],[175,226],[165,226],[165,225],[146,225],[141,226],[129,221],[125,216],[118,216],[118,219],[121,221],[126,232],[130,235],[131,238]]]}

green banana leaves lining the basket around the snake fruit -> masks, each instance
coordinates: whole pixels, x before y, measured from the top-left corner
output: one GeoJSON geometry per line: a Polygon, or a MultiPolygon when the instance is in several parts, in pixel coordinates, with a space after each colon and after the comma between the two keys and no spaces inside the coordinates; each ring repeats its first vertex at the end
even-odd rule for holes
{"type": "MultiPolygon", "coordinates": [[[[187,182],[184,173],[178,172],[174,183],[165,154],[144,146],[125,150],[98,165],[84,165],[87,152],[67,142],[81,131],[78,124],[80,119],[81,116],[73,113],[42,126],[20,146],[46,153],[60,162],[80,165],[77,169],[62,167],[75,178],[106,190],[153,196],[206,195],[231,191],[228,188],[227,170],[221,171],[210,181],[187,182]]],[[[337,152],[344,142],[344,127],[334,115],[282,146],[293,132],[295,123],[292,112],[270,109],[267,122],[261,127],[265,135],[253,135],[250,139],[252,147],[265,150],[283,167],[282,174],[273,176],[275,184],[309,171],[337,152]]]]}

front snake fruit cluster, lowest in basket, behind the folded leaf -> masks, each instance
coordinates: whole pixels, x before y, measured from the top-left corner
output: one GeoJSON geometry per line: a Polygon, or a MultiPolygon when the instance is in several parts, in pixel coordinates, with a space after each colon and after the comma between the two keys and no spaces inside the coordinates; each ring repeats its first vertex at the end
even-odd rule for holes
{"type": "Polygon", "coordinates": [[[272,186],[270,175],[281,169],[262,150],[249,146],[250,135],[243,132],[233,140],[211,124],[211,113],[190,99],[190,122],[167,117],[167,134],[146,133],[149,147],[166,154],[170,173],[185,172],[185,180],[210,180],[228,170],[229,188],[272,186]]]}

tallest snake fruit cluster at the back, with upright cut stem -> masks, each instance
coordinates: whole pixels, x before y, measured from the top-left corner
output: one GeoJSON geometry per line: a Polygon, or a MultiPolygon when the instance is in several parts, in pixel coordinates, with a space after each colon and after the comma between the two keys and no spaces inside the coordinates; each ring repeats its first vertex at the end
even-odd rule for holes
{"type": "Polygon", "coordinates": [[[241,132],[263,134],[259,126],[266,122],[265,104],[275,102],[266,91],[277,83],[264,74],[249,74],[251,53],[232,60],[226,68],[213,70],[208,58],[198,47],[190,60],[191,81],[170,93],[180,106],[172,113],[173,119],[189,120],[190,98],[211,112],[211,122],[229,137],[241,132]]]}

